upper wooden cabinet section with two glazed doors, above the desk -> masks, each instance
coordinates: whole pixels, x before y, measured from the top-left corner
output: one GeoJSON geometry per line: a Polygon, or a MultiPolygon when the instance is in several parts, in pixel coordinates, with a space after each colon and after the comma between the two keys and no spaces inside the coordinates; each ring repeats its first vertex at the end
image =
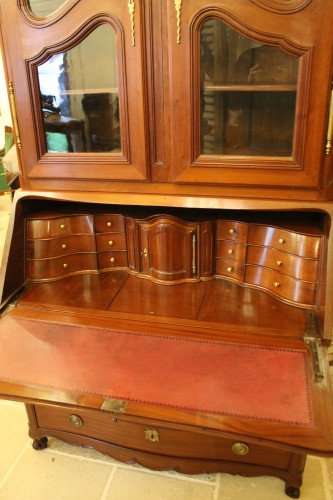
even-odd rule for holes
{"type": "Polygon", "coordinates": [[[2,5],[23,187],[332,199],[327,2],[41,9],[2,5]]]}

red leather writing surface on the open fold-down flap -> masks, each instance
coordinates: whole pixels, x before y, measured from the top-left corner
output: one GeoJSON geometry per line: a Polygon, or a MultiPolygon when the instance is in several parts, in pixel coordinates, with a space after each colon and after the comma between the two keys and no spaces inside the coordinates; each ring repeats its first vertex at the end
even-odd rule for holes
{"type": "Polygon", "coordinates": [[[15,319],[0,379],[67,392],[307,425],[306,352],[15,319]]]}

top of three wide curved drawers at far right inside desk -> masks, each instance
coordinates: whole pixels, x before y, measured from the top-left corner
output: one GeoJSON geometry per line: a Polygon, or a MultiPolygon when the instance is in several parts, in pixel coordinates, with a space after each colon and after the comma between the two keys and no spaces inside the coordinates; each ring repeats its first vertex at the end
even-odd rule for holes
{"type": "Polygon", "coordinates": [[[309,259],[318,259],[320,255],[320,237],[294,233],[277,227],[251,225],[248,242],[251,245],[273,247],[309,259]]]}

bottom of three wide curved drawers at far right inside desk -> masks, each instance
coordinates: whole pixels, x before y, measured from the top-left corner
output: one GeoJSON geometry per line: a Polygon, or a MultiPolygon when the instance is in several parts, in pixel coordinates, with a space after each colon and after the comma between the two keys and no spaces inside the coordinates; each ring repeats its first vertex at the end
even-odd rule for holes
{"type": "Polygon", "coordinates": [[[245,283],[264,288],[274,295],[296,302],[298,305],[315,305],[317,284],[296,280],[272,269],[260,266],[246,266],[245,283]]]}

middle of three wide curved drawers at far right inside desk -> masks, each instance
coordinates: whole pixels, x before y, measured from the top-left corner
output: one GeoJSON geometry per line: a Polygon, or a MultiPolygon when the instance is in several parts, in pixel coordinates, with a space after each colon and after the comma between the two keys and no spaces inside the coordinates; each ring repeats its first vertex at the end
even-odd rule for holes
{"type": "Polygon", "coordinates": [[[269,267],[299,280],[318,281],[318,260],[304,259],[303,257],[280,252],[275,248],[249,245],[247,263],[269,267]]]}

